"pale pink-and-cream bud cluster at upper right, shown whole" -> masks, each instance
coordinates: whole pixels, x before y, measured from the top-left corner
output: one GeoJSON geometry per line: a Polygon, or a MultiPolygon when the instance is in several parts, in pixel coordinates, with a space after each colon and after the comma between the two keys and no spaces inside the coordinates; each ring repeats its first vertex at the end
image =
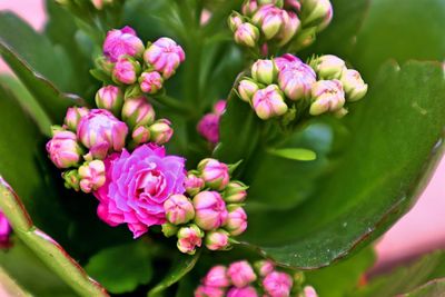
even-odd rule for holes
{"type": "Polygon", "coordinates": [[[238,96],[249,102],[260,119],[291,118],[298,112],[318,116],[347,113],[346,101],[357,101],[367,92],[358,71],[347,69],[335,56],[322,56],[309,65],[286,53],[270,60],[257,60],[238,85],[238,96]]]}

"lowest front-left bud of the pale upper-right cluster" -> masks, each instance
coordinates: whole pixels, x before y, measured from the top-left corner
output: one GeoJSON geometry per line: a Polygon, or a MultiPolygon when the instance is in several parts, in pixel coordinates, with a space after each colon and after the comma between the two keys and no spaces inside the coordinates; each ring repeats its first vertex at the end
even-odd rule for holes
{"type": "Polygon", "coordinates": [[[270,85],[266,89],[258,90],[254,95],[251,103],[255,112],[263,120],[283,116],[288,109],[277,85],[270,85]]]}

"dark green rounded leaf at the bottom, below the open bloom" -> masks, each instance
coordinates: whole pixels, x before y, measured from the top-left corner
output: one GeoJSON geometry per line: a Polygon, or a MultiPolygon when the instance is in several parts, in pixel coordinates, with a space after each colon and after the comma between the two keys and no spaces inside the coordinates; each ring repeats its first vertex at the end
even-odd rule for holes
{"type": "Polygon", "coordinates": [[[137,240],[103,249],[90,258],[85,269],[110,293],[132,291],[154,275],[149,244],[137,240]]]}

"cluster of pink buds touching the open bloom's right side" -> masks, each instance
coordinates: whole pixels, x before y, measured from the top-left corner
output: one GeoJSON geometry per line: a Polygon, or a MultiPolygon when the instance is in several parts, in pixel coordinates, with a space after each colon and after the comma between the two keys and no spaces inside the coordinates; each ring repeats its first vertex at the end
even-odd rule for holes
{"type": "Polygon", "coordinates": [[[198,170],[188,171],[186,194],[172,195],[165,204],[166,237],[177,236],[178,249],[195,254],[202,244],[210,250],[230,248],[234,236],[247,228],[243,201],[247,186],[230,180],[236,165],[228,166],[216,159],[204,159],[198,170]]]}

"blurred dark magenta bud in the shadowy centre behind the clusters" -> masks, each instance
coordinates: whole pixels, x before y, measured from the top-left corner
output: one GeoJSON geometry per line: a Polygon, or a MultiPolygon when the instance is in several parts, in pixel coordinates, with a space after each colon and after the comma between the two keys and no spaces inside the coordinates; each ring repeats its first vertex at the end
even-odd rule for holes
{"type": "Polygon", "coordinates": [[[219,100],[214,105],[212,111],[205,115],[198,122],[199,135],[212,145],[219,141],[219,120],[225,110],[226,100],[219,100]]]}

